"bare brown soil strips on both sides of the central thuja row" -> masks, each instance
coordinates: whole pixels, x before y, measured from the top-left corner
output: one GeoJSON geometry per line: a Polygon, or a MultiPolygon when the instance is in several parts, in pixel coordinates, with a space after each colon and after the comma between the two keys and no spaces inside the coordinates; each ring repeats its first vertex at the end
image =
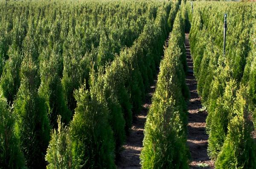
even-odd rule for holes
{"type": "MultiPolygon", "coordinates": [[[[187,64],[189,70],[193,70],[193,60],[190,55],[189,34],[186,35],[185,46],[187,55],[187,64]]],[[[168,46],[168,40],[166,40],[166,46],[168,46]]],[[[159,69],[157,69],[157,74],[159,69]]],[[[141,114],[138,115],[131,128],[131,135],[127,137],[126,143],[123,146],[124,150],[120,153],[120,157],[117,159],[117,169],[140,169],[140,152],[143,147],[144,138],[144,125],[146,121],[146,115],[151,107],[151,98],[154,94],[157,83],[157,77],[154,78],[154,84],[150,87],[148,94],[145,98],[145,103],[141,114]]],[[[208,135],[205,132],[205,120],[207,112],[200,111],[202,108],[201,98],[197,93],[197,82],[192,75],[186,76],[186,84],[190,90],[190,100],[188,105],[189,119],[188,119],[188,137],[187,143],[191,153],[191,160],[189,161],[190,169],[198,169],[199,163],[209,164],[207,169],[214,169],[214,162],[209,159],[207,155],[208,135]]]]}

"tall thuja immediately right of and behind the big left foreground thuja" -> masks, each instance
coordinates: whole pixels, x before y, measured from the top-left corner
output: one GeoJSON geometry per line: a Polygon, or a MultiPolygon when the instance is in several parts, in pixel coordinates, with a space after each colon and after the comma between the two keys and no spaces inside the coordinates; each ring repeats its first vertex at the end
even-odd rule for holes
{"type": "Polygon", "coordinates": [[[56,128],[57,115],[61,115],[61,120],[66,124],[71,117],[71,112],[65,104],[61,79],[58,73],[61,67],[61,57],[55,51],[45,49],[40,59],[41,85],[38,93],[46,101],[50,124],[56,128]]]}

